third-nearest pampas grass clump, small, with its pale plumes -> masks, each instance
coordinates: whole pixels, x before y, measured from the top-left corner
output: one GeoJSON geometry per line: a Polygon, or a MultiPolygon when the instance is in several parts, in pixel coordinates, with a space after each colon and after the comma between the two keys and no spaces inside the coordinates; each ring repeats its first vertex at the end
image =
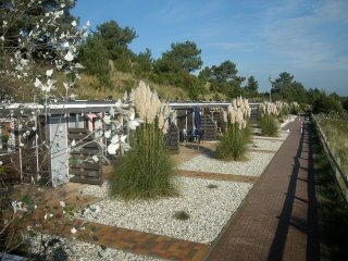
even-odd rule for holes
{"type": "Polygon", "coordinates": [[[276,104],[272,102],[262,103],[260,111],[261,119],[259,126],[261,128],[261,135],[276,137],[278,135],[276,117],[279,115],[276,104]]]}

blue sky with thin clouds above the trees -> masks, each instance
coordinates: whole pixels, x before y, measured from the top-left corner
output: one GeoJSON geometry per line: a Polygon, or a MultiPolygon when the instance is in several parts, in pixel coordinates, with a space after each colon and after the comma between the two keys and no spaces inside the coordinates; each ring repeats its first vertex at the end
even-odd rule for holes
{"type": "Polygon", "coordinates": [[[348,96],[348,0],[77,0],[72,14],[134,28],[129,49],[153,59],[194,41],[202,67],[229,60],[259,91],[288,72],[306,89],[348,96]]]}

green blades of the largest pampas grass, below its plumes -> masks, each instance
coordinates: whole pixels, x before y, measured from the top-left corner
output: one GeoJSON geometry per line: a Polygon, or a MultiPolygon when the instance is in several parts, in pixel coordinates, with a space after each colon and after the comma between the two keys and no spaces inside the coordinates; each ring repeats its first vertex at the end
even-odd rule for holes
{"type": "Polygon", "coordinates": [[[156,124],[142,124],[130,140],[132,150],[114,165],[110,195],[126,200],[177,196],[174,164],[156,124]]]}

